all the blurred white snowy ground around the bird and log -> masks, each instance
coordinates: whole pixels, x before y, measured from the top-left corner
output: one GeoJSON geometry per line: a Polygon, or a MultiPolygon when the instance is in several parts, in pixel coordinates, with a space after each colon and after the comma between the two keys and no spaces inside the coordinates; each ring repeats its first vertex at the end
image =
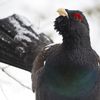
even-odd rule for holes
{"type": "MultiPolygon", "coordinates": [[[[17,13],[26,16],[36,31],[45,32],[55,42],[61,42],[61,37],[53,29],[56,10],[80,9],[93,7],[100,0],[0,0],[0,18],[17,13]]],[[[85,13],[85,12],[84,12],[85,13]]],[[[100,35],[97,20],[88,17],[91,29],[93,48],[100,54],[100,35]]],[[[31,74],[21,69],[0,63],[0,100],[34,100],[31,90],[31,74]],[[4,69],[4,70],[3,70],[4,69]]]]}

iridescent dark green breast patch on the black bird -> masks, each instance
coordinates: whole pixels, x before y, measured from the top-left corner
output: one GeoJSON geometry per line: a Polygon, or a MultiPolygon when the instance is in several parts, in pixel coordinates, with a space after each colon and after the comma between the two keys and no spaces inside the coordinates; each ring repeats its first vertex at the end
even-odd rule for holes
{"type": "Polygon", "coordinates": [[[47,86],[57,94],[67,97],[79,97],[89,95],[95,85],[96,72],[94,70],[80,70],[76,73],[69,71],[63,75],[48,73],[47,86]]]}

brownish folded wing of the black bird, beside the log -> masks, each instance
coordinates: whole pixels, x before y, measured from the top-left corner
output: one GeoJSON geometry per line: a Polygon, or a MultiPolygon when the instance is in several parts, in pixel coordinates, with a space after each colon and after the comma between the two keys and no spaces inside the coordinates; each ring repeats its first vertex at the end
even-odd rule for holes
{"type": "Polygon", "coordinates": [[[37,88],[38,78],[39,76],[41,76],[43,72],[47,57],[50,55],[51,51],[53,51],[53,49],[55,49],[59,45],[60,44],[55,44],[55,45],[50,44],[50,45],[45,46],[35,58],[34,63],[33,63],[33,68],[32,68],[32,76],[31,76],[33,92],[37,88]]]}

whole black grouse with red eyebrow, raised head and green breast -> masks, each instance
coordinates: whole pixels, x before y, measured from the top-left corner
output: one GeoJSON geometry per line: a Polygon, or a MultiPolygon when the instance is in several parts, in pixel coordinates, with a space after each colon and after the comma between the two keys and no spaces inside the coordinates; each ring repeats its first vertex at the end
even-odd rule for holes
{"type": "Polygon", "coordinates": [[[62,44],[44,47],[32,69],[36,100],[100,100],[100,59],[81,11],[59,9],[55,29],[62,44]]]}

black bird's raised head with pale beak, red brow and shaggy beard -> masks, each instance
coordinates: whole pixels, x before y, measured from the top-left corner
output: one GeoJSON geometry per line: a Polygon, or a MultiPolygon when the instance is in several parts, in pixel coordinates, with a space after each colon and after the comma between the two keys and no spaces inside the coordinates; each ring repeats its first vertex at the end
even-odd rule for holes
{"type": "Polygon", "coordinates": [[[60,8],[59,17],[55,20],[55,29],[59,34],[66,36],[89,36],[89,25],[83,13],[78,10],[60,8]]]}

